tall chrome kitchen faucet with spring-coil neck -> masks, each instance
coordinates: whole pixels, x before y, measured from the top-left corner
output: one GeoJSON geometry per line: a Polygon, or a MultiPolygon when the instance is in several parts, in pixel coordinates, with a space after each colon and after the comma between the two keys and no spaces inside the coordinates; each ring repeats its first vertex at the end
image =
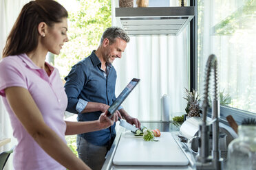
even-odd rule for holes
{"type": "Polygon", "coordinates": [[[219,149],[219,118],[220,118],[220,102],[218,100],[218,89],[217,89],[217,58],[215,55],[209,56],[206,62],[206,75],[205,75],[205,84],[204,84],[204,97],[202,104],[202,124],[199,127],[199,138],[200,138],[200,147],[199,155],[196,161],[196,169],[222,169],[222,158],[220,158],[220,149],[219,149]],[[206,123],[206,114],[208,108],[208,97],[209,97],[209,80],[211,71],[213,70],[213,101],[212,101],[212,121],[206,123]],[[212,126],[213,131],[213,147],[211,156],[210,145],[209,145],[209,131],[210,126],[212,126]]]}

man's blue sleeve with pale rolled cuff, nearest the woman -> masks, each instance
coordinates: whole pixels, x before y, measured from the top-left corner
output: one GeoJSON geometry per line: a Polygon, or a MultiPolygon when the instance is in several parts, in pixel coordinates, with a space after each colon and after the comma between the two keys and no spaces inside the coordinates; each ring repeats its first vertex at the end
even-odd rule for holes
{"type": "Polygon", "coordinates": [[[72,67],[69,75],[65,77],[65,92],[67,94],[68,104],[67,111],[72,113],[79,113],[83,111],[87,105],[87,101],[79,99],[81,90],[86,81],[86,74],[83,70],[83,64],[76,64],[72,67]],[[79,78],[77,78],[79,77],[79,78]]]}

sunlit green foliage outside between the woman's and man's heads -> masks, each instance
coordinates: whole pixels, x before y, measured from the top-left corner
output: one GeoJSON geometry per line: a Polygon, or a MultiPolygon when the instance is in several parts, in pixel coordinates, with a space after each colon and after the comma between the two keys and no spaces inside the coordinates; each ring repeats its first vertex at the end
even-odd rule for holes
{"type": "Polygon", "coordinates": [[[98,47],[104,30],[111,27],[111,0],[72,1],[78,3],[79,9],[68,11],[69,42],[65,42],[61,53],[54,58],[62,79],[76,62],[89,56],[98,47]]]}

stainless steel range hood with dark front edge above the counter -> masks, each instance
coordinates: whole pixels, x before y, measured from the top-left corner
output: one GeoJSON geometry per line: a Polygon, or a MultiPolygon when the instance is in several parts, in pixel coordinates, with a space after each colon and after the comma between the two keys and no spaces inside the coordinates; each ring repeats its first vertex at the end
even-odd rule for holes
{"type": "Polygon", "coordinates": [[[116,19],[127,34],[177,36],[195,15],[193,6],[116,8],[116,19]]]}

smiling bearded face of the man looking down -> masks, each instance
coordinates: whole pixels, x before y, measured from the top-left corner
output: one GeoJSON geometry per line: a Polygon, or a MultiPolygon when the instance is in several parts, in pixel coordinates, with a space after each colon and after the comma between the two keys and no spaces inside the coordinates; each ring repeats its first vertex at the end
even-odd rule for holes
{"type": "Polygon", "coordinates": [[[116,58],[122,58],[122,52],[125,51],[127,42],[121,38],[116,38],[116,42],[109,45],[109,40],[107,38],[105,40],[103,42],[105,45],[104,60],[112,64],[116,58]]]}

